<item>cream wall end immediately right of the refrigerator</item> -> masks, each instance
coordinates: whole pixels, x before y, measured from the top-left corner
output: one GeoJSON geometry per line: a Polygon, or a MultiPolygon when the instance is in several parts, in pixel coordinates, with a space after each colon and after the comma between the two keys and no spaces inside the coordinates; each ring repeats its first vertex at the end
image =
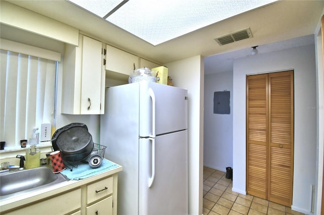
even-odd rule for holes
{"type": "Polygon", "coordinates": [[[189,214],[203,213],[204,59],[200,56],[164,65],[173,85],[188,89],[189,214]]]}

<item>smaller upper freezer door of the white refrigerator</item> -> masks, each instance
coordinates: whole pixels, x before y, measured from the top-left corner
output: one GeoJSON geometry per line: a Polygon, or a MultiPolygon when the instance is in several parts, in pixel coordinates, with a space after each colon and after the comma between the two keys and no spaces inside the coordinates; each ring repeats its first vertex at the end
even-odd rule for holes
{"type": "Polygon", "coordinates": [[[188,128],[187,90],[154,82],[140,82],[140,137],[188,128]]]}

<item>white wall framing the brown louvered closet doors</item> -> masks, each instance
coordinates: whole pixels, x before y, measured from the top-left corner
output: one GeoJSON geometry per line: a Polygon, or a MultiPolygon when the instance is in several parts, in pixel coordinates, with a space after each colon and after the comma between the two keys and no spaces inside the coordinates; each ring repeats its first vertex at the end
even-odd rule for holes
{"type": "Polygon", "coordinates": [[[233,191],[246,193],[246,75],[294,69],[295,134],[292,209],[309,213],[315,184],[316,77],[314,45],[234,60],[233,191]]]}

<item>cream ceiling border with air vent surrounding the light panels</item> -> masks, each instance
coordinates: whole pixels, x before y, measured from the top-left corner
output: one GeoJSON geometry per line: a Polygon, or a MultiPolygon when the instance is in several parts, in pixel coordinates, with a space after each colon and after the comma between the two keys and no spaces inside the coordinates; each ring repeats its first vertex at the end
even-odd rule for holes
{"type": "MultiPolygon", "coordinates": [[[[259,52],[262,53],[266,44],[314,34],[324,6],[324,1],[278,1],[154,46],[66,1],[8,2],[71,25],[110,45],[161,65],[198,55],[208,57],[249,50],[255,45],[259,45],[259,52]],[[253,38],[222,46],[214,40],[246,28],[251,29],[253,38]]],[[[249,51],[243,55],[249,55],[249,51]]]]}

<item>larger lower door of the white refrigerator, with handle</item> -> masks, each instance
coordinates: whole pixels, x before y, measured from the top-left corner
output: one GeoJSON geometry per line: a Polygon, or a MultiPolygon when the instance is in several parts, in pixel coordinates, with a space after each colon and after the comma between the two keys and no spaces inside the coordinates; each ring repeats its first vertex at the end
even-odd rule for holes
{"type": "Polygon", "coordinates": [[[139,145],[139,214],[188,214],[187,131],[139,145]]]}

